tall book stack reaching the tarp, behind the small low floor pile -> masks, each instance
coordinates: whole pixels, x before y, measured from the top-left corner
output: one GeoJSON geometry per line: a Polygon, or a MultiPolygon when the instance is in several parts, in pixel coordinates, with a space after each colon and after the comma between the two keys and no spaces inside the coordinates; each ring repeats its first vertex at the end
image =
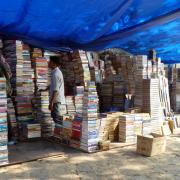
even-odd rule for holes
{"type": "MultiPolygon", "coordinates": [[[[18,123],[33,121],[31,100],[34,93],[29,47],[16,41],[16,112],[18,123]]],[[[20,127],[21,128],[21,127],[20,127]]]]}

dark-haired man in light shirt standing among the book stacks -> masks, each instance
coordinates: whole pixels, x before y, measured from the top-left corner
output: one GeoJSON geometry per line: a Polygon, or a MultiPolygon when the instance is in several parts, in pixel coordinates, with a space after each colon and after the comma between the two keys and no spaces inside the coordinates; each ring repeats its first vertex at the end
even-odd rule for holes
{"type": "Polygon", "coordinates": [[[62,123],[61,105],[66,104],[64,95],[64,79],[61,70],[59,69],[59,57],[52,56],[49,61],[49,68],[52,69],[50,82],[50,102],[49,110],[55,123],[62,123]]]}

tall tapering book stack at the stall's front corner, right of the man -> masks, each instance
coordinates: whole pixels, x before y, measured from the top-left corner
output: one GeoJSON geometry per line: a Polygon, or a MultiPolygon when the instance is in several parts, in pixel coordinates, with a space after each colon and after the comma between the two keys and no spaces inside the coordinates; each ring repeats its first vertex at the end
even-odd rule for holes
{"type": "Polygon", "coordinates": [[[86,152],[95,152],[98,149],[98,96],[95,82],[87,82],[83,104],[80,148],[86,152]]]}

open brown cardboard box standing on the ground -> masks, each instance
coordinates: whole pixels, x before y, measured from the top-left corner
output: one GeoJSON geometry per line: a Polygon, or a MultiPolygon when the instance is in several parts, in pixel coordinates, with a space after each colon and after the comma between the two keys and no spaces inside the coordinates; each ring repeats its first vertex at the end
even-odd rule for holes
{"type": "Polygon", "coordinates": [[[136,152],[145,156],[155,156],[166,150],[166,137],[152,133],[150,136],[137,136],[136,152]]]}

